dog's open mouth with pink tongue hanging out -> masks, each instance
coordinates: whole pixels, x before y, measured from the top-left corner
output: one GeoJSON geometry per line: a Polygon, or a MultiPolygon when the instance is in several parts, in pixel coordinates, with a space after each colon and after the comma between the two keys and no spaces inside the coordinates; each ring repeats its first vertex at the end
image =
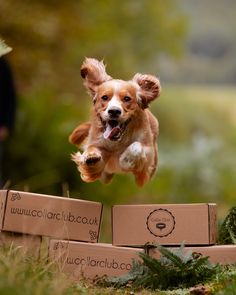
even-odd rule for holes
{"type": "Polygon", "coordinates": [[[109,120],[107,122],[104,122],[105,130],[103,133],[103,137],[105,139],[110,139],[113,141],[119,140],[127,124],[128,124],[128,121],[123,123],[120,123],[116,120],[109,120]]]}

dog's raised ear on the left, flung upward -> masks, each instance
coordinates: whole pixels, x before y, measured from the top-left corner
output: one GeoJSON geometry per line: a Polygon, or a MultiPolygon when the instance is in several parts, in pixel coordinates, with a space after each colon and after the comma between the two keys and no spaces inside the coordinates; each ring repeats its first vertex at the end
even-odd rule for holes
{"type": "Polygon", "coordinates": [[[95,95],[99,85],[112,80],[112,77],[106,73],[104,63],[95,58],[86,58],[81,66],[80,73],[84,79],[84,86],[92,96],[95,95]]]}

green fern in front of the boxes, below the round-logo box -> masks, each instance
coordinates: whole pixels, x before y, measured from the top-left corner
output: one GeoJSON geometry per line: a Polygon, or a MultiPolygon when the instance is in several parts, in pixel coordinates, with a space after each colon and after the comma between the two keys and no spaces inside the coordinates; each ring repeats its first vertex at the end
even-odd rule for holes
{"type": "Polygon", "coordinates": [[[133,288],[167,290],[188,288],[207,282],[219,271],[218,265],[210,264],[208,257],[186,251],[182,245],[175,252],[163,246],[156,246],[161,253],[160,259],[140,253],[142,263],[134,261],[129,274],[107,279],[108,286],[122,287],[128,283],[133,288]]]}

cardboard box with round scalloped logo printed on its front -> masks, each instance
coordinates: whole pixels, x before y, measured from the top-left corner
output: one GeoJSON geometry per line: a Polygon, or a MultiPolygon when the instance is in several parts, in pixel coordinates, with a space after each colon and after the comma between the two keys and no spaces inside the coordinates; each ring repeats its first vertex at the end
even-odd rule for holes
{"type": "Polygon", "coordinates": [[[113,245],[210,245],[216,241],[216,204],[117,205],[113,245]]]}

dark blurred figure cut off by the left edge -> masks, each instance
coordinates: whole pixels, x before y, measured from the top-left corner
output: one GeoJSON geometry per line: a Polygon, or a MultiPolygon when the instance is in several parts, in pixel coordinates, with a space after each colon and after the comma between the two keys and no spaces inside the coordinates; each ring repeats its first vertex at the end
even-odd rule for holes
{"type": "Polygon", "coordinates": [[[16,114],[16,89],[9,63],[0,57],[0,187],[3,186],[4,142],[12,134],[16,114]]]}

